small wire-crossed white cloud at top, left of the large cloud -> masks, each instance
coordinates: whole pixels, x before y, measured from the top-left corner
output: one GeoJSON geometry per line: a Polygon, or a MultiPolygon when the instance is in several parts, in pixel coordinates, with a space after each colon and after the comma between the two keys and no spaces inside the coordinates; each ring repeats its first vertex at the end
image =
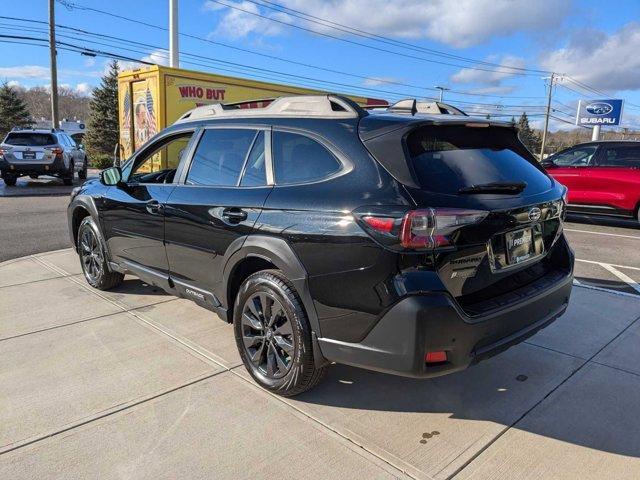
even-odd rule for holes
{"type": "Polygon", "coordinates": [[[243,38],[249,34],[275,36],[282,34],[284,29],[288,28],[280,23],[252,15],[252,13],[259,13],[260,15],[264,15],[270,19],[291,23],[291,17],[289,15],[268,9],[260,11],[255,3],[229,1],[229,4],[237,8],[223,7],[218,3],[210,1],[205,2],[205,10],[226,10],[218,22],[218,26],[213,31],[213,36],[224,36],[228,38],[243,38]]]}

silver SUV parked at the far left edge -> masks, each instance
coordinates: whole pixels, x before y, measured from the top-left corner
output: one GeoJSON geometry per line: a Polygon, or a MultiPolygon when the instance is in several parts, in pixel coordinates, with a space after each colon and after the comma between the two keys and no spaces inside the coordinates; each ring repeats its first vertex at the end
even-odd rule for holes
{"type": "Polygon", "coordinates": [[[0,172],[8,186],[25,175],[53,175],[72,185],[76,172],[78,178],[87,178],[87,155],[60,130],[14,129],[0,144],[0,172]]]}

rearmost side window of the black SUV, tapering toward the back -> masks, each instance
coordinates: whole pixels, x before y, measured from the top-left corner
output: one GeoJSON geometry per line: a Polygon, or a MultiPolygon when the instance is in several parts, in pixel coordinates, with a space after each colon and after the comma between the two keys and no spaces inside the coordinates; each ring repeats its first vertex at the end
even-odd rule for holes
{"type": "Polygon", "coordinates": [[[273,169],[276,185],[308,183],[327,178],[342,164],[317,141],[305,135],[273,132],[273,169]]]}

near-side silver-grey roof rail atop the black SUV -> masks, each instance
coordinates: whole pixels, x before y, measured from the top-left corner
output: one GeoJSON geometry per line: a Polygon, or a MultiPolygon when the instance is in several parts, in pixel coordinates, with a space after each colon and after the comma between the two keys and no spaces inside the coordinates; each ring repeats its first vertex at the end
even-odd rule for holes
{"type": "Polygon", "coordinates": [[[339,95],[297,95],[266,98],[232,104],[212,103],[194,108],[182,115],[177,123],[206,118],[240,117],[314,117],[358,118],[367,115],[357,103],[339,95]]]}

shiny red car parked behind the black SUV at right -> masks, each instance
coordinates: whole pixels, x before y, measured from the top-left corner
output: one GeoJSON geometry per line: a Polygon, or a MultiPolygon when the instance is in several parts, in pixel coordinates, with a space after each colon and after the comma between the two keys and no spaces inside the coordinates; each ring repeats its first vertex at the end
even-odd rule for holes
{"type": "Polygon", "coordinates": [[[640,142],[581,143],[550,156],[543,165],[569,189],[569,211],[640,222],[640,142]]]}

